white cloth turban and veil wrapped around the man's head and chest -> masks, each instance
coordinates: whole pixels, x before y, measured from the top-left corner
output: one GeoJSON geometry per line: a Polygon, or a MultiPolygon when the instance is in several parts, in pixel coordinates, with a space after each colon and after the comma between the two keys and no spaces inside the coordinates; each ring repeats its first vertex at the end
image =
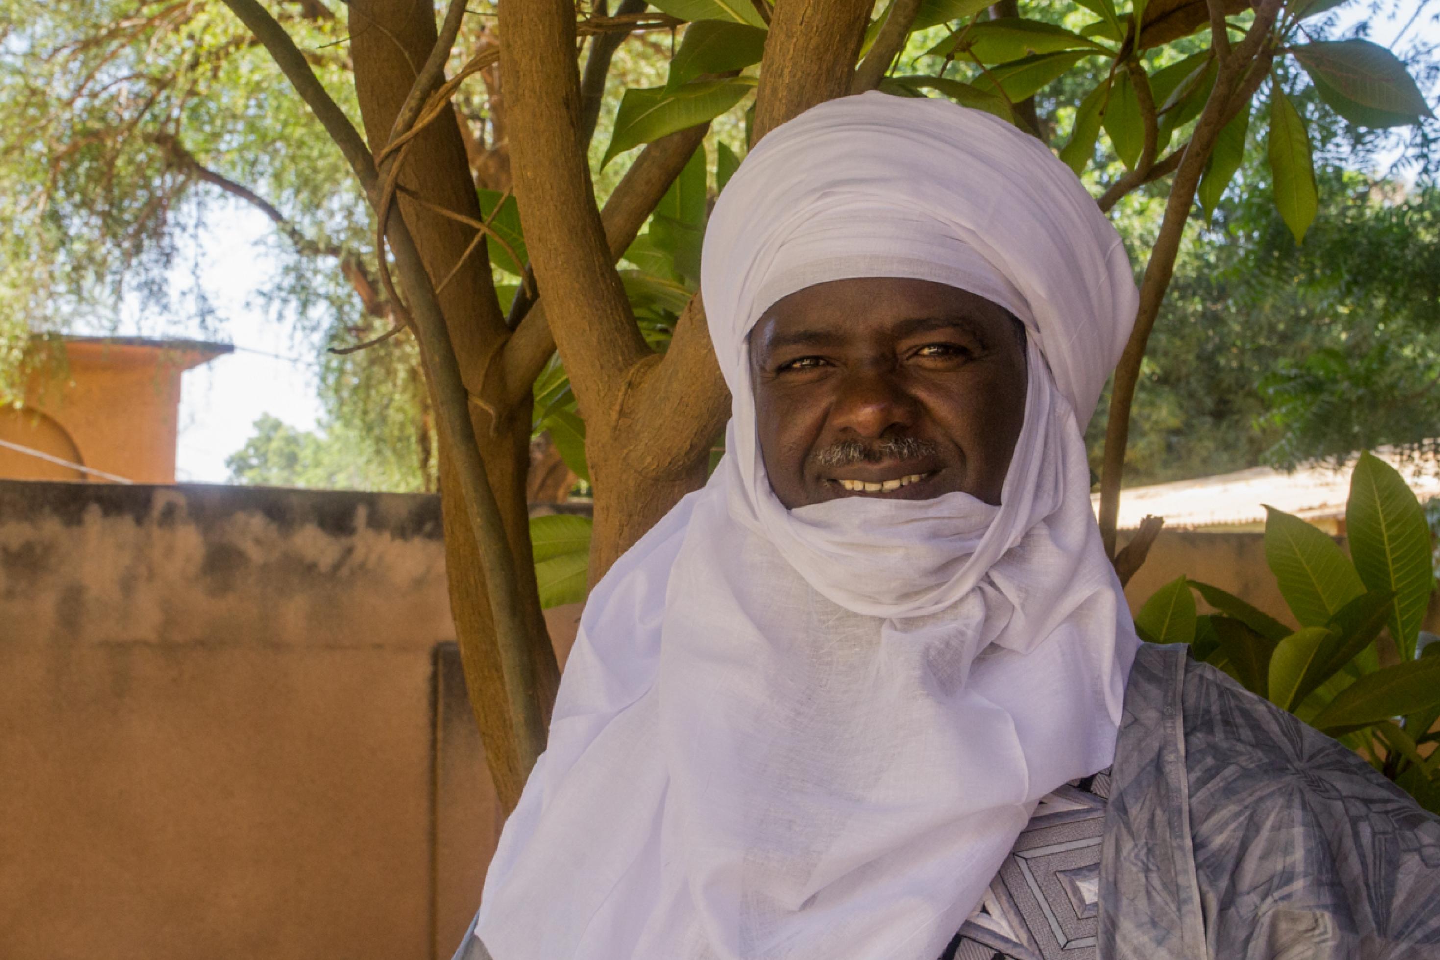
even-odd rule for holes
{"type": "Polygon", "coordinates": [[[1115,751],[1136,639],[1080,430],[1133,322],[1129,261],[1038,141],[863,94],[750,153],[701,284],[727,453],[590,594],[478,934],[495,960],[933,960],[1040,797],[1115,751]],[[1024,322],[999,507],[775,498],[746,335],[855,276],[1024,322]]]}

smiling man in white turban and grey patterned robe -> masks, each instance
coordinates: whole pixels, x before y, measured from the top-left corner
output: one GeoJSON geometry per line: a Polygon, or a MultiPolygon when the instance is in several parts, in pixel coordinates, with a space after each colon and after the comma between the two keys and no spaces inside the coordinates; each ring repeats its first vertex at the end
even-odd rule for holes
{"type": "Polygon", "coordinates": [[[726,456],[593,590],[458,956],[1440,957],[1440,822],[1136,640],[1081,440],[1135,284],[1043,144],[816,107],[703,286],[726,456]]]}

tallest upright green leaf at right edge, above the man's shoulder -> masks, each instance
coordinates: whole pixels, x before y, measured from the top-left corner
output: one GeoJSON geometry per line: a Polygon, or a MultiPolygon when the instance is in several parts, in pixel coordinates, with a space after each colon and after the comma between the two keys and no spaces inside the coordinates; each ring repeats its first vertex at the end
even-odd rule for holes
{"type": "Polygon", "coordinates": [[[1434,590],[1430,525],[1400,472],[1368,452],[1351,474],[1345,533],[1359,579],[1371,590],[1392,593],[1390,635],[1410,659],[1434,590]]]}

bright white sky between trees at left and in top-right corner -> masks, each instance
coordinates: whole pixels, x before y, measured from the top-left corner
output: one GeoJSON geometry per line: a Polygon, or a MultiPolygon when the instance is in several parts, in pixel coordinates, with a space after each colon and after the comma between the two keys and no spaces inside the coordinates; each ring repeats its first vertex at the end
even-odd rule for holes
{"type": "MultiPolygon", "coordinates": [[[[1344,26],[1368,17],[1369,4],[1351,0],[1336,10],[1344,26]],[[1354,10],[1351,10],[1354,9],[1354,10]]],[[[1374,17],[1371,39],[1390,45],[1411,20],[1398,49],[1410,43],[1440,43],[1440,13],[1436,0],[1401,0],[1394,13],[1374,17]]],[[[1430,91],[1431,104],[1436,91],[1430,91]]],[[[197,243],[204,252],[202,284],[223,318],[219,331],[203,334],[199,327],[164,324],[166,335],[219,338],[235,345],[226,354],[184,374],[180,400],[180,438],[177,479],[181,482],[223,484],[229,476],[225,458],[245,445],[255,420],[269,413],[289,426],[315,429],[321,416],[317,399],[317,348],[300,340],[292,327],[268,320],[255,299],[256,292],[274,282],[276,268],[259,240],[274,230],[265,216],[240,203],[215,207],[210,229],[197,243]]],[[[189,271],[186,258],[184,272],[189,271]]],[[[177,278],[183,286],[189,276],[177,278]]],[[[153,324],[131,321],[131,332],[156,335],[153,324]]]]}

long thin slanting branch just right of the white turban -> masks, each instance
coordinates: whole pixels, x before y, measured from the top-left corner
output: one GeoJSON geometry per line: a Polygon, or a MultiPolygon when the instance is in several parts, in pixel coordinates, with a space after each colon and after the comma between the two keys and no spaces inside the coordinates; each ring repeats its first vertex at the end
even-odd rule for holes
{"type": "MultiPolygon", "coordinates": [[[[1130,404],[1135,402],[1135,387],[1139,383],[1145,347],[1175,272],[1175,256],[1179,253],[1179,243],[1185,235],[1185,223],[1195,201],[1200,177],[1215,148],[1215,138],[1233,115],[1231,98],[1241,88],[1241,82],[1247,79],[1247,71],[1259,66],[1261,69],[1257,72],[1263,75],[1269,69],[1273,53],[1264,45],[1270,42],[1270,29],[1274,26],[1280,6],[1282,0],[1263,0],[1256,10],[1256,19],[1248,33],[1234,46],[1230,59],[1220,66],[1215,86],[1210,92],[1210,99],[1205,101],[1205,109],[1195,124],[1195,132],[1191,134],[1175,171],[1159,236],[1145,266],[1145,276],[1140,281],[1139,312],[1130,340],[1126,343],[1125,353],[1115,370],[1110,413],[1104,432],[1104,466],[1100,475],[1100,535],[1110,557],[1115,557],[1115,533],[1120,514],[1120,481],[1125,475],[1125,449],[1130,432],[1130,404]]],[[[1253,73],[1248,78],[1253,79],[1253,73]]]]}

